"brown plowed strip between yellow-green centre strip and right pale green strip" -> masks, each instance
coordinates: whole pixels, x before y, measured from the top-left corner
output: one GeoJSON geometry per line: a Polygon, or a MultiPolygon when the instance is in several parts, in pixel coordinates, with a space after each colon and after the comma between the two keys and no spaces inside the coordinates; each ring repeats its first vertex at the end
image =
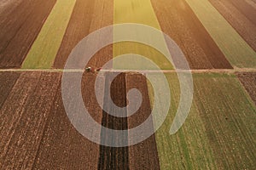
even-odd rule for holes
{"type": "Polygon", "coordinates": [[[162,31],[177,42],[191,69],[232,68],[188,3],[184,0],[151,2],[162,31]]]}

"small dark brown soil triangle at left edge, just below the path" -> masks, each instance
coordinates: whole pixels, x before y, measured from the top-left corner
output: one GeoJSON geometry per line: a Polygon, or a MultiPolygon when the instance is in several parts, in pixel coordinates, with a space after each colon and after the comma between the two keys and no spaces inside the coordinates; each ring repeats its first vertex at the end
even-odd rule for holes
{"type": "Polygon", "coordinates": [[[20,73],[0,72],[0,108],[8,97],[11,89],[14,87],[20,73]]]}

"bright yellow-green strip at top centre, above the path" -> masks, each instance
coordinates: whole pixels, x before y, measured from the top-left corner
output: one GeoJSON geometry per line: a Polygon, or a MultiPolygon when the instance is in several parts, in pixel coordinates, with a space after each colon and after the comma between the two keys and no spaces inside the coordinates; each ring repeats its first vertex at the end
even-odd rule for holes
{"type": "MultiPolygon", "coordinates": [[[[113,24],[123,23],[143,24],[160,30],[160,25],[156,15],[154,14],[154,8],[152,7],[150,0],[114,0],[113,24]]],[[[120,32],[113,30],[113,40],[119,36],[119,33],[120,32]]],[[[155,41],[154,37],[145,37],[145,40],[155,41]]],[[[159,43],[162,44],[163,47],[166,46],[164,37],[159,40],[159,43]]],[[[148,59],[152,59],[155,64],[160,66],[161,69],[172,69],[172,64],[163,54],[160,54],[157,50],[148,47],[147,45],[136,42],[119,42],[113,44],[113,57],[119,56],[121,54],[140,54],[147,57],[148,59]]],[[[122,65],[117,64],[113,64],[113,67],[124,69],[122,68],[122,65]]]]}

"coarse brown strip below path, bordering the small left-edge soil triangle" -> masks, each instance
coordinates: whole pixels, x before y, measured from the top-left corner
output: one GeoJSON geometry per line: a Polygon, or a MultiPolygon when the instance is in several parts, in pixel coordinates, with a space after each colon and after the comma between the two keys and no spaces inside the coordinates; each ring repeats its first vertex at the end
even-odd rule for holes
{"type": "Polygon", "coordinates": [[[21,73],[0,117],[0,167],[31,169],[58,88],[60,73],[21,73]]]}

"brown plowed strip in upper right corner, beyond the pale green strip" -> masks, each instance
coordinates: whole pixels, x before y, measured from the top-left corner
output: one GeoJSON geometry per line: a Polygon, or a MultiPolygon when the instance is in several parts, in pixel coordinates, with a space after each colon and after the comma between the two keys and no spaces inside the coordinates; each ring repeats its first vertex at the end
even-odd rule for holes
{"type": "MultiPolygon", "coordinates": [[[[229,0],[210,0],[210,2],[229,21],[230,25],[236,29],[254,51],[256,51],[256,25],[251,20],[248,20],[246,15],[229,0]]],[[[239,3],[246,3],[246,1],[240,1],[239,3]]],[[[256,3],[254,5],[256,7],[256,3]]],[[[252,11],[255,12],[256,8],[252,8],[252,11]]]]}

